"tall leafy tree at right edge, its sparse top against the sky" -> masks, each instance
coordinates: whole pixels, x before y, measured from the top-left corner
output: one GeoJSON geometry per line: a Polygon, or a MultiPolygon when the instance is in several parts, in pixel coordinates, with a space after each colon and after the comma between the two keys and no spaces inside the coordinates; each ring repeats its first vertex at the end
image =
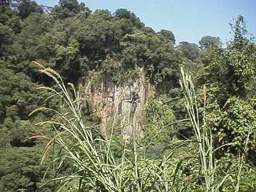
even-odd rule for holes
{"type": "MultiPolygon", "coordinates": [[[[239,153],[244,147],[248,130],[256,122],[253,76],[256,67],[256,45],[246,38],[242,16],[232,24],[234,39],[226,48],[209,47],[205,54],[204,70],[198,83],[207,86],[205,122],[216,133],[216,147],[225,143],[218,157],[239,153]]],[[[255,135],[250,137],[249,150],[255,157],[255,135]]],[[[253,159],[250,159],[253,160],[253,159]]]]}

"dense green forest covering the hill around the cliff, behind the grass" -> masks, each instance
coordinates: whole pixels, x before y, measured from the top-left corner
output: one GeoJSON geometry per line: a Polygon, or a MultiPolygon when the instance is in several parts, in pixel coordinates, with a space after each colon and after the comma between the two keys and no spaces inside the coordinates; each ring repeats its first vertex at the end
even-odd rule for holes
{"type": "MultiPolygon", "coordinates": [[[[36,90],[38,86],[58,90],[58,86],[47,74],[38,73],[31,61],[56,70],[65,84],[73,83],[77,90],[84,85],[85,79],[90,79],[95,87],[104,79],[111,79],[115,84],[131,83],[140,76],[138,69],[143,68],[147,82],[154,87],[154,94],[145,109],[144,137],[140,142],[148,148],[148,161],[152,163],[152,159],[160,156],[160,151],[166,152],[164,146],[169,146],[169,150],[179,142],[195,140],[193,125],[188,120],[180,121],[189,118],[179,83],[182,79],[180,67],[184,67],[192,74],[196,86],[201,114],[198,120],[205,121],[213,135],[212,145],[220,148],[214,155],[220,162],[218,166],[225,171],[218,173],[218,177],[226,177],[226,172],[236,170],[237,158],[243,154],[244,141],[249,138],[240,189],[254,191],[256,45],[254,38],[248,36],[245,20],[242,16],[231,20],[234,38],[227,44],[216,36],[205,35],[198,44],[176,42],[175,45],[172,31],[156,32],[125,8],[115,13],[108,10],[92,13],[84,3],[76,0],[60,0],[53,8],[29,0],[1,0],[0,191],[57,190],[58,181],[54,180],[39,187],[45,182],[43,179],[72,173],[74,166],[68,162],[62,162],[59,169],[49,165],[54,156],[51,152],[46,163],[40,165],[47,141],[29,139],[33,135],[54,136],[56,127],[38,128],[35,124],[49,118],[58,119],[52,111],[29,117],[31,111],[42,106],[63,113],[67,111],[63,100],[54,99],[47,90],[36,90]],[[205,102],[204,86],[207,88],[205,102]],[[172,124],[177,121],[179,123],[172,124]],[[251,127],[253,131],[248,136],[251,127]]],[[[87,108],[83,112],[88,124],[97,127],[95,135],[100,134],[99,122],[92,111],[87,108]]],[[[118,151],[120,145],[118,142],[115,145],[118,151]]],[[[182,144],[180,148],[189,151],[192,145],[193,142],[182,144]]],[[[187,179],[196,169],[193,168],[195,159],[188,157],[191,153],[176,156],[174,153],[175,157],[189,159],[183,164],[179,161],[177,166],[187,179]]],[[[230,174],[227,181],[232,182],[233,176],[230,174]]],[[[197,185],[199,189],[205,181],[200,175],[198,178],[191,182],[196,182],[194,187],[197,185]]],[[[234,191],[234,186],[227,184],[223,186],[225,189],[234,191]]]]}

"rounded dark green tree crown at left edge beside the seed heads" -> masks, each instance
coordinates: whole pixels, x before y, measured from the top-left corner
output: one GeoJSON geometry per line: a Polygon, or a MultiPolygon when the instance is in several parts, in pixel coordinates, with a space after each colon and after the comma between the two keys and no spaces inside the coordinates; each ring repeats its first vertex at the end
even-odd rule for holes
{"type": "MultiPolygon", "coordinates": [[[[0,68],[3,75],[0,77],[0,103],[1,103],[1,122],[4,118],[14,120],[28,120],[28,114],[40,106],[47,97],[47,92],[38,94],[36,83],[31,83],[31,79],[23,73],[16,73],[8,69],[10,63],[0,61],[0,68]]],[[[11,65],[12,66],[12,65],[11,65]]]]}

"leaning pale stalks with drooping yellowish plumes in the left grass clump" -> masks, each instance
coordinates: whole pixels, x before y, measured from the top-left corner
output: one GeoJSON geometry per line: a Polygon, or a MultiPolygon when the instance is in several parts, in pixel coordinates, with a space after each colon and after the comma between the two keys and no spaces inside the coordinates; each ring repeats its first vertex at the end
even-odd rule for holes
{"type": "MultiPolygon", "coordinates": [[[[114,184],[115,180],[112,179],[113,177],[116,178],[116,175],[111,175],[111,172],[113,172],[113,168],[116,167],[115,159],[113,159],[113,156],[109,152],[109,145],[111,145],[111,141],[102,140],[102,144],[105,145],[106,149],[108,149],[108,158],[107,161],[104,162],[105,160],[100,154],[101,150],[97,150],[97,148],[93,144],[96,140],[93,140],[92,132],[90,131],[90,129],[88,129],[88,127],[86,127],[86,125],[84,125],[84,122],[82,120],[81,110],[79,110],[81,99],[77,96],[74,85],[68,83],[68,85],[71,86],[75,97],[74,100],[72,100],[65,86],[65,83],[60,77],[60,74],[58,74],[51,68],[44,68],[41,65],[38,65],[38,63],[36,64],[37,66],[42,68],[40,69],[40,72],[47,74],[47,76],[51,77],[55,81],[55,83],[58,85],[58,88],[60,88],[61,92],[57,92],[52,88],[47,89],[53,91],[56,94],[56,96],[63,99],[65,104],[68,106],[68,109],[70,109],[70,115],[72,116],[72,118],[68,118],[67,115],[61,114],[59,111],[56,111],[54,109],[49,109],[51,111],[54,111],[58,116],[61,117],[62,121],[59,120],[56,123],[60,125],[61,129],[63,129],[65,132],[67,132],[67,134],[74,138],[74,140],[77,143],[76,145],[80,146],[79,148],[83,151],[83,154],[90,161],[90,164],[92,164],[94,168],[86,167],[83,165],[83,161],[81,161],[79,153],[76,152],[77,149],[75,150],[74,147],[69,146],[68,143],[66,143],[65,138],[61,136],[61,132],[59,132],[57,129],[55,129],[56,136],[54,136],[54,138],[52,138],[51,141],[55,141],[56,143],[58,143],[58,145],[61,145],[61,147],[65,149],[68,156],[70,156],[70,158],[74,161],[74,164],[77,166],[79,170],[87,169],[90,173],[94,175],[93,177],[102,182],[102,186],[105,186],[105,188],[108,189],[108,191],[118,191],[114,184]]],[[[40,89],[45,89],[45,87],[40,87],[40,89]]],[[[33,113],[45,109],[47,108],[36,109],[33,111],[33,113]]],[[[32,115],[33,113],[31,113],[30,115],[32,115]]],[[[42,161],[44,161],[46,153],[49,151],[49,147],[51,147],[52,143],[53,142],[47,145],[45,155],[42,161]]],[[[93,183],[94,182],[92,182],[92,184],[93,183]]]]}

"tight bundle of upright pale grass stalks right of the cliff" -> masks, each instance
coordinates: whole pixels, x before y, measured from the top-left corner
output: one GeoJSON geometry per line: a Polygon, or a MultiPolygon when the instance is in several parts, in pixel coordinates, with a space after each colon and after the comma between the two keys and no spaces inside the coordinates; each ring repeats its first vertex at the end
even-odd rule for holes
{"type": "Polygon", "coordinates": [[[198,152],[200,156],[200,164],[202,165],[202,174],[205,180],[205,191],[215,191],[214,186],[214,173],[215,173],[215,160],[213,157],[214,148],[212,147],[212,132],[205,126],[205,102],[206,102],[206,86],[204,86],[204,114],[203,122],[200,125],[198,106],[196,101],[195,87],[191,80],[191,76],[180,68],[183,82],[180,81],[181,87],[185,93],[186,109],[193,126],[196,141],[198,145],[198,152]],[[208,134],[209,131],[209,134],[208,134]]]}

